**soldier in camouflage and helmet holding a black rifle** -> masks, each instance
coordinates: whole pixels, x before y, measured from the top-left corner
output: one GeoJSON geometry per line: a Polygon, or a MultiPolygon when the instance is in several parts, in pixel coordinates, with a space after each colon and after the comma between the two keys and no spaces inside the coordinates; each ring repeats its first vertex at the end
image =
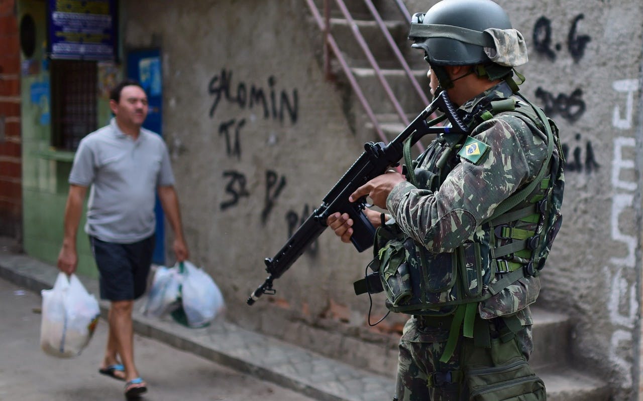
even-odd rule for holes
{"type": "MultiPolygon", "coordinates": [[[[413,15],[409,38],[469,133],[439,135],[413,162],[407,151],[405,175],[389,169],[350,197],[390,213],[365,210],[386,306],[412,315],[394,400],[545,400],[529,305],[561,223],[564,160],[556,125],[513,78],[524,39],[491,0],[442,0],[413,15]]],[[[327,223],[350,241],[348,214],[327,223]]]]}

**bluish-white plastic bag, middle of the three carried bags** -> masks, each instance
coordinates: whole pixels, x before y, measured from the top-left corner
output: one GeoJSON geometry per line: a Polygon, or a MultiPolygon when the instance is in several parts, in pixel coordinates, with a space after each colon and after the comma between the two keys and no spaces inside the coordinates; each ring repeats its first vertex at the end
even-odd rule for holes
{"type": "Polygon", "coordinates": [[[179,273],[179,268],[176,266],[156,268],[152,286],[147,294],[147,302],[143,307],[143,314],[159,318],[181,307],[181,282],[183,282],[183,275],[179,273]]]}

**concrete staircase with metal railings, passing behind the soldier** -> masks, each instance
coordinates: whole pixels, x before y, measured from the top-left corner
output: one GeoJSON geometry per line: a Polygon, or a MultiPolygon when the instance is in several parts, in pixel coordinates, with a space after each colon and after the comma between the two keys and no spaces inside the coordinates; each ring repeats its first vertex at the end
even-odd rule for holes
{"type": "MultiPolygon", "coordinates": [[[[403,1],[305,1],[320,28],[325,74],[344,89],[357,139],[390,141],[429,103],[427,65],[406,39],[411,17],[403,1]]],[[[606,382],[574,367],[572,330],[568,316],[534,309],[531,363],[548,400],[609,400],[606,382]]]]}

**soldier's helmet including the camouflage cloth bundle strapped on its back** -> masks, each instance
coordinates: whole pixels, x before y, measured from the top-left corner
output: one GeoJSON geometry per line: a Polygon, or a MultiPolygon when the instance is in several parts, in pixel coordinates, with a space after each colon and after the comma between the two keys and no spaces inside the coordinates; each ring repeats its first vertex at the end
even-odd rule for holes
{"type": "Polygon", "coordinates": [[[491,0],[439,1],[428,12],[413,15],[408,37],[434,66],[491,61],[514,67],[527,62],[524,38],[491,0]]]}

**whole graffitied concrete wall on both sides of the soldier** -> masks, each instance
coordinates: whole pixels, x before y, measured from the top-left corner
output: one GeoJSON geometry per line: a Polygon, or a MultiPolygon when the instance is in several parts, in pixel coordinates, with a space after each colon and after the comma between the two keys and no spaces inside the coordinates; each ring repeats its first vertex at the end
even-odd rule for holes
{"type": "MultiPolygon", "coordinates": [[[[434,2],[407,3],[415,12],[434,2]]],[[[628,399],[640,381],[643,6],[499,3],[528,42],[522,92],[557,121],[568,155],[564,225],[539,304],[572,316],[576,359],[609,380],[616,399],[628,399]]],[[[369,329],[368,302],[352,294],[369,255],[330,232],[276,282],[275,297],[244,303],[266,277],[262,259],[361,151],[340,92],[323,80],[305,4],[157,4],[123,4],[123,40],[163,52],[165,138],[192,259],[221,284],[232,320],[390,374],[395,336],[369,329]],[[253,89],[264,91],[265,109],[251,100],[253,89]],[[379,361],[355,351],[364,343],[379,361]]],[[[379,318],[381,298],[374,303],[379,318]]],[[[400,321],[389,316],[378,329],[394,331],[400,321]]]]}

